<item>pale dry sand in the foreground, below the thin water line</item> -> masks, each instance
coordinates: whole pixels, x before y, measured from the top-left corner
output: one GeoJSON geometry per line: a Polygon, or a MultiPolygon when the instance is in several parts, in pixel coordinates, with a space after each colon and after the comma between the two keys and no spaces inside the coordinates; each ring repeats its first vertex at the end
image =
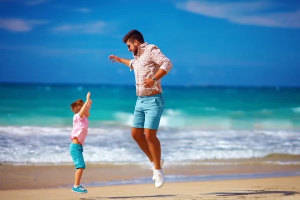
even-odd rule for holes
{"type": "Polygon", "coordinates": [[[165,183],[159,189],[154,184],[89,187],[86,194],[70,188],[0,191],[0,199],[300,199],[300,176],[165,183]]]}

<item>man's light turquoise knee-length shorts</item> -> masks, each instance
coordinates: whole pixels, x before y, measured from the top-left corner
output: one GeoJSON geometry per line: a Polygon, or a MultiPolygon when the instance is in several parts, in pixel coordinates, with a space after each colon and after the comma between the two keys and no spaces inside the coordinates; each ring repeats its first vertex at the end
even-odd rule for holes
{"type": "Polygon", "coordinates": [[[133,112],[132,127],[157,130],[164,108],[162,93],[138,96],[133,112]]]}

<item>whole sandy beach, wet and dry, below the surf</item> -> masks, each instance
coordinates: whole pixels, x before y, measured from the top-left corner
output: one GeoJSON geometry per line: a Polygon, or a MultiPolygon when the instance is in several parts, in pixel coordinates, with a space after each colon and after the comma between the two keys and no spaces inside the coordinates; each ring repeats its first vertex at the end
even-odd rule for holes
{"type": "MultiPolygon", "coordinates": [[[[170,180],[176,175],[262,174],[299,172],[299,165],[238,164],[187,165],[165,167],[165,184],[156,189],[154,183],[135,183],[98,186],[116,180],[150,180],[151,171],[140,165],[88,164],[81,184],[86,194],[71,192],[73,166],[13,166],[0,165],[0,199],[300,199],[300,176],[244,178],[196,181],[170,180]],[[88,169],[88,170],[87,170],[88,169]],[[98,184],[98,185],[97,185],[98,184]]],[[[296,173],[298,174],[298,173],[296,173]]],[[[203,176],[204,177],[204,176],[203,176]]]]}

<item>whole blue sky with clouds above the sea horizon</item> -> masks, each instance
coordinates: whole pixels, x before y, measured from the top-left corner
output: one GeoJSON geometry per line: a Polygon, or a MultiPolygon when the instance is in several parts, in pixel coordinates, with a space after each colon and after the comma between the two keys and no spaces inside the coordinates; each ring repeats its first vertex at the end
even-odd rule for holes
{"type": "Polygon", "coordinates": [[[300,86],[300,1],[0,0],[0,82],[134,84],[139,30],[173,68],[164,85],[300,86]]]}

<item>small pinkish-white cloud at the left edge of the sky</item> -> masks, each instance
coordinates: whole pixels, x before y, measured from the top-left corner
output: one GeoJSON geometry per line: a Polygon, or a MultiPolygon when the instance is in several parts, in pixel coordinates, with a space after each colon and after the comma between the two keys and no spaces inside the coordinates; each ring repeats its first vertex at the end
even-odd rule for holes
{"type": "Polygon", "coordinates": [[[45,24],[45,20],[25,20],[21,18],[0,18],[0,28],[13,32],[27,32],[35,25],[45,24]]]}

